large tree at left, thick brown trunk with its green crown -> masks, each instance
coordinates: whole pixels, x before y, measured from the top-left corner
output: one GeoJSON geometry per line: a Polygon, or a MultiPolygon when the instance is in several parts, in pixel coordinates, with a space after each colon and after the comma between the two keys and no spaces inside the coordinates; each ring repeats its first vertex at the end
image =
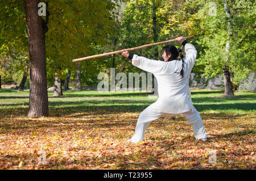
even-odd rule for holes
{"type": "MultiPolygon", "coordinates": [[[[51,81],[55,78],[56,67],[60,66],[63,68],[62,70],[75,70],[76,66],[72,63],[72,58],[79,57],[80,52],[86,55],[94,53],[98,50],[95,47],[105,43],[106,36],[113,28],[110,11],[115,7],[114,2],[101,0],[43,0],[40,2],[46,3],[46,16],[38,16],[39,1],[0,1],[2,7],[0,11],[0,47],[13,46],[17,50],[26,52],[28,51],[28,43],[30,46],[29,51],[32,60],[30,62],[30,89],[34,90],[36,87],[37,90],[30,92],[29,116],[48,114],[47,109],[44,109],[48,105],[48,99],[46,101],[42,97],[36,97],[40,91],[42,91],[41,96],[47,97],[47,91],[43,88],[46,87],[45,59],[48,62],[47,72],[49,78],[52,78],[51,81]],[[36,17],[34,18],[34,16],[36,17]],[[40,66],[39,69],[38,66],[40,66]],[[40,85],[35,86],[40,83],[42,83],[42,87],[40,85]],[[39,105],[40,103],[44,106],[39,105]],[[34,110],[33,105],[39,106],[34,110]],[[37,110],[43,110],[44,113],[40,111],[35,113],[37,110]]],[[[90,70],[92,66],[97,66],[98,62],[88,65],[86,69],[90,70]]],[[[63,72],[57,73],[57,77],[63,76],[63,72]]]]}

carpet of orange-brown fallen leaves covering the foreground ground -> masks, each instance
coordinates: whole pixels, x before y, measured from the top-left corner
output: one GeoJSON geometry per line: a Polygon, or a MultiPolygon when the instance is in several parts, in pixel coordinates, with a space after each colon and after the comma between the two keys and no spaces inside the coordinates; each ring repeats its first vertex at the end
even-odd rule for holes
{"type": "Polygon", "coordinates": [[[28,118],[27,107],[10,108],[1,113],[0,169],[256,169],[255,114],[200,112],[205,142],[184,116],[164,116],[131,144],[141,111],[56,106],[28,118]]]}

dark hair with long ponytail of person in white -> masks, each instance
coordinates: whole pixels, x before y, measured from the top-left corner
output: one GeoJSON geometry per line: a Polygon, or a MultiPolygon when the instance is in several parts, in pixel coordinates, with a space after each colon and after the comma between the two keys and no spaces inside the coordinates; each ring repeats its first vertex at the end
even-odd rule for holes
{"type": "Polygon", "coordinates": [[[184,74],[184,71],[183,71],[183,68],[184,68],[184,60],[183,60],[183,54],[182,54],[182,50],[181,48],[176,48],[175,45],[166,45],[165,47],[163,47],[162,49],[162,53],[164,52],[164,50],[166,51],[166,54],[167,56],[169,54],[172,54],[172,56],[170,58],[172,58],[172,60],[174,59],[177,59],[177,57],[181,57],[181,60],[182,60],[182,69],[180,71],[180,75],[181,75],[181,78],[183,78],[183,74],[184,74]]]}

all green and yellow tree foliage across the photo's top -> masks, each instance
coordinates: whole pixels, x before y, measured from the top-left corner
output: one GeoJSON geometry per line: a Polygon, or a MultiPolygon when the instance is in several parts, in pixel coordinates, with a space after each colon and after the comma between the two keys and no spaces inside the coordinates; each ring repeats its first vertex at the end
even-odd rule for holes
{"type": "MultiPolygon", "coordinates": [[[[188,40],[197,48],[197,62],[193,72],[198,78],[222,75],[228,66],[233,86],[255,71],[255,2],[227,0],[232,22],[229,33],[224,0],[131,0],[131,1],[42,1],[47,3],[46,53],[48,84],[53,85],[55,72],[65,79],[71,70],[76,80],[73,58],[111,52],[123,48],[164,41],[177,36],[196,35],[188,40]],[[121,3],[124,2],[124,3],[121,3]],[[123,7],[119,14],[118,8],[123,7]],[[154,8],[155,7],[155,8],[154,8]],[[214,14],[216,7],[216,14],[214,14]],[[118,12],[117,12],[118,11],[118,12]],[[154,24],[155,14],[155,24],[154,24]],[[48,17],[48,18],[47,18],[48,17]],[[227,41],[230,42],[226,53],[227,41]],[[225,61],[227,60],[228,61],[225,61]]],[[[2,56],[10,56],[10,49],[25,54],[28,51],[26,23],[22,1],[0,0],[0,47],[2,56]]],[[[177,47],[179,44],[174,43],[177,47]]],[[[162,59],[163,45],[135,50],[131,53],[162,59]]],[[[8,59],[5,59],[8,60],[8,59]]],[[[17,63],[18,64],[18,63],[17,63]]],[[[1,59],[1,65],[3,59],[1,59]]],[[[95,58],[81,62],[84,85],[96,85],[97,74],[115,68],[116,73],[139,71],[121,55],[95,58]]],[[[20,74],[23,72],[22,66],[20,74]]],[[[0,73],[6,70],[1,66],[0,73]]]]}

